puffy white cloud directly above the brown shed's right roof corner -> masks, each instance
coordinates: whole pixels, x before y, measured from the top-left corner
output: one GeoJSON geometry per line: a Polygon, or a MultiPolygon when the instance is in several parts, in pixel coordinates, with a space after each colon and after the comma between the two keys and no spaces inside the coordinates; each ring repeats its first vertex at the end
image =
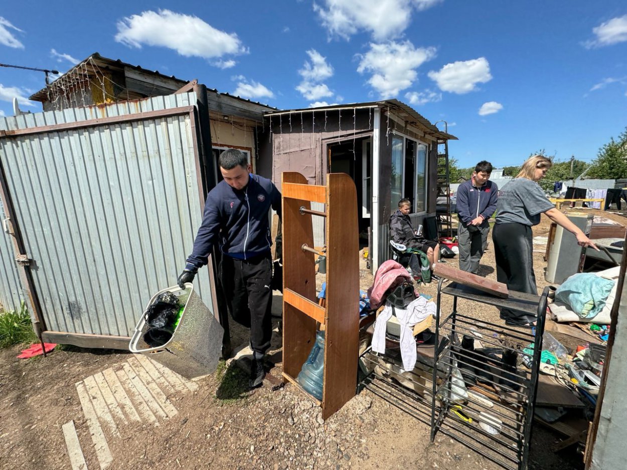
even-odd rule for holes
{"type": "Polygon", "coordinates": [[[416,48],[410,41],[370,44],[370,50],[361,59],[357,71],[372,73],[368,83],[381,98],[396,97],[409,88],[418,73],[416,68],[436,55],[436,48],[416,48]]]}

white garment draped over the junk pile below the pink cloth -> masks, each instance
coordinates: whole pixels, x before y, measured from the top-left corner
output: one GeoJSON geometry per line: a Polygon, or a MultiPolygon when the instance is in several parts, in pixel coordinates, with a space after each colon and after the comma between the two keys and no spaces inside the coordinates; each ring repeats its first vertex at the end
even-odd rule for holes
{"type": "MultiPolygon", "coordinates": [[[[416,358],[418,357],[412,327],[429,315],[435,316],[436,306],[435,303],[428,302],[424,297],[418,297],[411,301],[407,308],[395,307],[394,311],[399,325],[401,325],[401,359],[403,360],[403,372],[406,372],[416,367],[416,358]]],[[[374,334],[372,335],[372,350],[374,352],[386,352],[387,320],[392,315],[392,306],[386,303],[385,308],[379,313],[374,324],[374,334]]]]}

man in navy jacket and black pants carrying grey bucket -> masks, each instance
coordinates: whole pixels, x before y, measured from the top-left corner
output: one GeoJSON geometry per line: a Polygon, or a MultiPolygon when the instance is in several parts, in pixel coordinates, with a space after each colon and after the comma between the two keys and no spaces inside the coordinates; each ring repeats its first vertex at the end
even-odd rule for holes
{"type": "Polygon", "coordinates": [[[281,193],[271,180],[251,174],[240,150],[224,150],[219,157],[224,180],[212,189],[205,202],[203,223],[187,258],[179,286],[191,282],[208,263],[214,244],[223,253],[219,277],[233,320],[250,328],[253,350],[250,386],[263,382],[263,355],[272,335],[272,260],[270,254],[270,207],[281,216],[281,193]]]}

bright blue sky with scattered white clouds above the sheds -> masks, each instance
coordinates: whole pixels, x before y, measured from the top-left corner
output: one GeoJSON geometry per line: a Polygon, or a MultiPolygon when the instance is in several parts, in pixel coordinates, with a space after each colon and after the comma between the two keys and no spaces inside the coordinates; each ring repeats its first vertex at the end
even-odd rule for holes
{"type": "MultiPolygon", "coordinates": [[[[624,0],[11,3],[0,63],[98,52],[278,108],[398,98],[460,138],[461,166],[545,149],[590,161],[627,125],[624,0]],[[36,14],[34,13],[36,12],[36,14]]],[[[0,67],[0,114],[43,74],[0,67]]]]}

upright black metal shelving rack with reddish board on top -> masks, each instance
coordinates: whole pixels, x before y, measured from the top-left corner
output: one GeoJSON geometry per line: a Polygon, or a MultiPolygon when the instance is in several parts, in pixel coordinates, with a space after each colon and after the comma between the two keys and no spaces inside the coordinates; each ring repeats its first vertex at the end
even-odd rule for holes
{"type": "Polygon", "coordinates": [[[436,369],[445,370],[445,376],[433,391],[441,404],[432,411],[432,441],[443,432],[505,469],[527,468],[548,295],[547,287],[541,296],[510,291],[503,299],[462,283],[442,288],[440,282],[436,337],[446,336],[449,343],[435,359],[436,369]],[[453,311],[444,317],[439,311],[442,295],[453,296],[453,311]],[[535,335],[532,330],[512,328],[504,322],[478,321],[460,313],[458,298],[536,315],[535,335]],[[474,347],[477,342],[483,348],[473,350],[470,343],[474,347]],[[529,345],[533,345],[532,354],[523,352],[529,345]],[[469,396],[461,404],[463,414],[472,422],[456,414],[460,409],[454,401],[459,395],[452,389],[455,368],[466,385],[473,380],[482,384],[467,387],[469,396]]]}

